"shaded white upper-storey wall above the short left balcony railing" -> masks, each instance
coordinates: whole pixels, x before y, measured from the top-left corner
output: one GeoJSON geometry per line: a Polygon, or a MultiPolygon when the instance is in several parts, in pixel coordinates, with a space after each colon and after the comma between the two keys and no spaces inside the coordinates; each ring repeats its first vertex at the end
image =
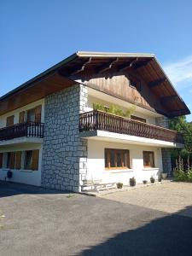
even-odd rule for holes
{"type": "Polygon", "coordinates": [[[26,106],[24,106],[22,108],[17,108],[9,113],[5,113],[5,114],[1,115],[0,116],[0,128],[3,128],[6,126],[6,119],[7,119],[7,117],[9,117],[11,115],[15,115],[14,124],[18,124],[21,111],[26,111],[28,109],[35,108],[38,105],[42,105],[41,122],[44,123],[44,99],[41,99],[37,102],[32,102],[30,104],[27,104],[26,106]]]}

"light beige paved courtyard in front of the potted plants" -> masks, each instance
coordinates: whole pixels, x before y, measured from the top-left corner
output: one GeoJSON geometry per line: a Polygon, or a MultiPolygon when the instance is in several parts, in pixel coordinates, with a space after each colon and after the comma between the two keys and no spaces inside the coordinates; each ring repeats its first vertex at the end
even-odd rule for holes
{"type": "Polygon", "coordinates": [[[192,183],[158,183],[102,197],[162,212],[180,212],[192,217],[192,207],[189,207],[192,206],[192,183]]]}

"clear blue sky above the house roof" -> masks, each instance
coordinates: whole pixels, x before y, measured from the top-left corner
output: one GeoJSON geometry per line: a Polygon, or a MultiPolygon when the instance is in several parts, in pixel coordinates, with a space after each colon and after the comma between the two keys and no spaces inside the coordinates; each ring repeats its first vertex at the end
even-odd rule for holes
{"type": "Polygon", "coordinates": [[[192,0],[1,0],[0,96],[78,50],[143,52],[192,111],[191,13],[192,0]]]}

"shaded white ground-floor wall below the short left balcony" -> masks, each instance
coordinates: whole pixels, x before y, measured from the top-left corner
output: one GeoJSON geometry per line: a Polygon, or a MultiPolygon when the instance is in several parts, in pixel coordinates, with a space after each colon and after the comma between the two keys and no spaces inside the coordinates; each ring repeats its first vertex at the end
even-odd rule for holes
{"type": "MultiPolygon", "coordinates": [[[[11,178],[7,178],[10,182],[16,183],[26,183],[31,185],[40,186],[41,185],[41,166],[42,166],[42,144],[40,143],[30,143],[27,145],[15,145],[13,147],[3,147],[0,148],[0,152],[12,152],[12,151],[25,151],[39,149],[39,158],[38,158],[38,171],[30,171],[30,170],[11,170],[13,172],[13,176],[11,178]]],[[[7,172],[9,169],[3,168],[0,169],[0,180],[5,180],[7,177],[7,172]]]]}

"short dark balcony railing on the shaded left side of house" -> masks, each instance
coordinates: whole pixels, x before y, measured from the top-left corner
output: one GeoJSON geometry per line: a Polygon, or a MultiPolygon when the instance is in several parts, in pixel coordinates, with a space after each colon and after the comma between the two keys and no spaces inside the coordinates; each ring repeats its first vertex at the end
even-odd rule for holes
{"type": "Polygon", "coordinates": [[[10,140],[16,137],[44,137],[44,124],[26,122],[11,125],[0,129],[0,141],[10,140]]]}

